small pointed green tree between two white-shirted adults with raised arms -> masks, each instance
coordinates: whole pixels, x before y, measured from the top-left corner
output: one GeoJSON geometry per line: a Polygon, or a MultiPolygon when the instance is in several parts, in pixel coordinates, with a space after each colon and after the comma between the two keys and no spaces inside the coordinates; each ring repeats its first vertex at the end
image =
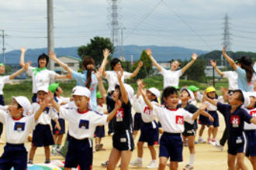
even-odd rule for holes
{"type": "Polygon", "coordinates": [[[143,66],[140,68],[140,72],[137,74],[136,78],[144,79],[145,77],[150,75],[151,70],[152,70],[152,62],[151,62],[149,56],[147,56],[147,53],[145,50],[142,51],[142,53],[140,55],[140,60],[136,61],[133,64],[133,70],[135,70],[137,68],[140,61],[143,62],[143,66]]]}

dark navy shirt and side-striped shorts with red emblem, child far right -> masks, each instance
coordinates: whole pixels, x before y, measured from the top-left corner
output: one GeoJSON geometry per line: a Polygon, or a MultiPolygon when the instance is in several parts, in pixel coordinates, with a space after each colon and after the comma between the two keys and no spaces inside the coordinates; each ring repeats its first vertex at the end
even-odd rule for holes
{"type": "Polygon", "coordinates": [[[230,104],[217,103],[217,109],[223,114],[228,130],[228,150],[230,155],[245,153],[247,150],[247,138],[244,133],[244,121],[250,123],[252,116],[246,110],[239,107],[232,114],[230,104]]]}

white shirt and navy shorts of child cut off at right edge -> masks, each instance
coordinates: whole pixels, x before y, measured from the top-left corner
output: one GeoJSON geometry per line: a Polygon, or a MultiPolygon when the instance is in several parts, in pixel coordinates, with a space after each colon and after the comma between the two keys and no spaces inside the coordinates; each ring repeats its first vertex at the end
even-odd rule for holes
{"type": "MultiPolygon", "coordinates": [[[[252,117],[256,117],[256,108],[245,110],[247,110],[252,117]]],[[[256,125],[244,122],[244,132],[248,140],[248,148],[245,155],[254,157],[256,156],[256,125]]]]}

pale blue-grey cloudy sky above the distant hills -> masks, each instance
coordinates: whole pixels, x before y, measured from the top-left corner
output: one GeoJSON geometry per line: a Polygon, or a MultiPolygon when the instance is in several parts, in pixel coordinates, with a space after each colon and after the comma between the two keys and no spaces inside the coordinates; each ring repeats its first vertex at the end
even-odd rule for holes
{"type": "MultiPolygon", "coordinates": [[[[0,4],[7,52],[20,46],[47,47],[47,0],[0,0],[0,4]]],[[[118,0],[117,4],[123,45],[222,49],[227,13],[230,49],[256,52],[256,0],[118,0]]],[[[54,0],[54,46],[86,45],[95,36],[111,38],[111,5],[111,0],[54,0]]],[[[0,48],[1,55],[2,39],[0,48]]]]}

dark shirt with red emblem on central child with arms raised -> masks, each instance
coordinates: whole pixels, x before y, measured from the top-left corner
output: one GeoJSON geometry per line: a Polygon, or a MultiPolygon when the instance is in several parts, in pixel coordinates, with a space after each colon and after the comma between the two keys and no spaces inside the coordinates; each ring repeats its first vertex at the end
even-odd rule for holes
{"type": "MultiPolygon", "coordinates": [[[[106,97],[106,104],[109,106],[109,113],[115,108],[116,102],[112,97],[106,97]]],[[[114,133],[123,132],[126,130],[132,130],[132,114],[131,105],[128,100],[127,104],[122,104],[122,106],[117,110],[116,115],[112,118],[114,124],[114,133]]]]}

